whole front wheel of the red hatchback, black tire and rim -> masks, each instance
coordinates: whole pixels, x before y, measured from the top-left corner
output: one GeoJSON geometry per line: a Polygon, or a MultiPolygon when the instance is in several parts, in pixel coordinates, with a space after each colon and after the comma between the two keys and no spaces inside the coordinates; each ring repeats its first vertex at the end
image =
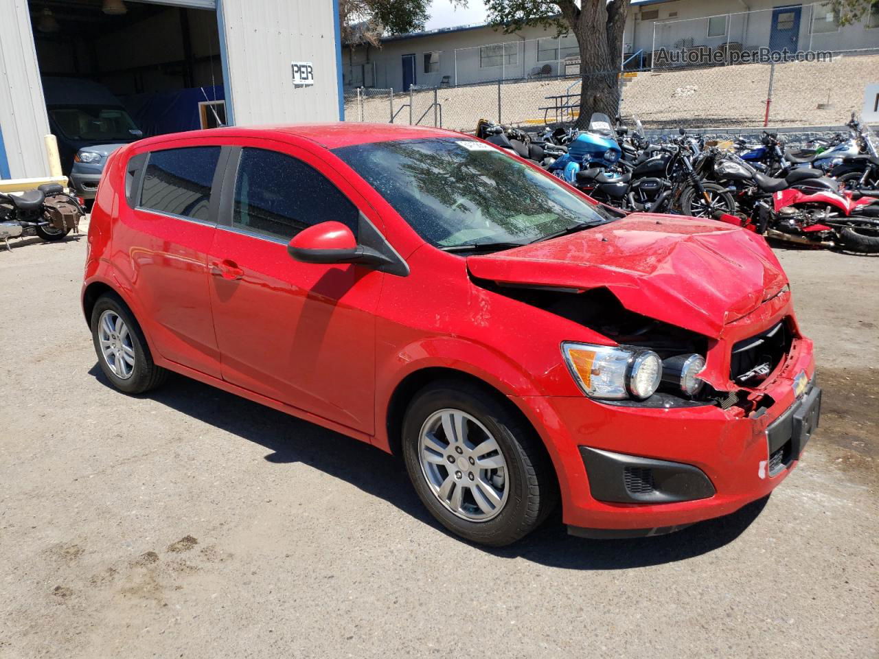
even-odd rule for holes
{"type": "Polygon", "coordinates": [[[469,382],[441,381],[416,395],[403,420],[403,460],[433,517],[483,545],[524,537],[558,498],[534,429],[509,402],[469,382]]]}

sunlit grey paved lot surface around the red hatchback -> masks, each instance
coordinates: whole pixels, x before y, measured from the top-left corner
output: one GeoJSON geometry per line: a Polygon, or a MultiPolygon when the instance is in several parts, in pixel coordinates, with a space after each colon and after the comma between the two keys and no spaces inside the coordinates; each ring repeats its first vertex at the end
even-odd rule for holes
{"type": "Polygon", "coordinates": [[[179,377],[113,391],[84,251],[0,252],[0,657],[879,653],[879,259],[780,252],[826,393],[768,501],[486,551],[367,445],[179,377]]]}

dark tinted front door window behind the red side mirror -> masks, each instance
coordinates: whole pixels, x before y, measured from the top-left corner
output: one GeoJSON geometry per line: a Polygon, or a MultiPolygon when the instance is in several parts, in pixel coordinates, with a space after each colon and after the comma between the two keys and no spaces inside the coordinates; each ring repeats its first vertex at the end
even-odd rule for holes
{"type": "Polygon", "coordinates": [[[335,220],[357,235],[359,212],[339,189],[301,160],[263,148],[243,148],[232,226],[282,240],[335,220]]]}

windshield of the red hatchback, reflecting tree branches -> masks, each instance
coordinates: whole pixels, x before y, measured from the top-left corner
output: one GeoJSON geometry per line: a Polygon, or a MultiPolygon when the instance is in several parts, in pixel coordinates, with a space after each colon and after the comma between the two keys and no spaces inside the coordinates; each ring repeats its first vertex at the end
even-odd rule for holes
{"type": "Polygon", "coordinates": [[[333,152],[439,248],[511,247],[607,221],[576,192],[480,141],[383,141],[333,152]]]}

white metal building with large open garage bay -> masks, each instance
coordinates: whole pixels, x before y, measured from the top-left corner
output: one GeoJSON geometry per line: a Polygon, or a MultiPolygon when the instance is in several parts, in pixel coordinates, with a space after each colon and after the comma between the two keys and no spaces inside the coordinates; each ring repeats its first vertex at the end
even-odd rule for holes
{"type": "Polygon", "coordinates": [[[0,179],[47,176],[41,76],[123,99],[219,89],[236,125],[344,112],[338,0],[0,0],[0,17],[0,179]],[[294,85],[294,62],[312,65],[313,84],[294,85]]]}

